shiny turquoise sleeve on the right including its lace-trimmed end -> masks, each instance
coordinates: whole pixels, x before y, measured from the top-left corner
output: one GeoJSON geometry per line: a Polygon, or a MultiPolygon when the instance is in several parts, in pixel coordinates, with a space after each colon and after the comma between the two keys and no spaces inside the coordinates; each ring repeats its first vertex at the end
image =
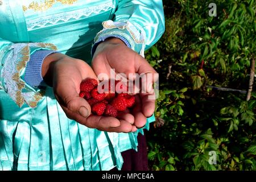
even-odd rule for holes
{"type": "Polygon", "coordinates": [[[104,29],[96,35],[94,42],[104,36],[122,36],[134,51],[143,56],[144,50],[154,45],[163,35],[163,3],[160,0],[119,0],[114,18],[102,25],[104,29]]]}

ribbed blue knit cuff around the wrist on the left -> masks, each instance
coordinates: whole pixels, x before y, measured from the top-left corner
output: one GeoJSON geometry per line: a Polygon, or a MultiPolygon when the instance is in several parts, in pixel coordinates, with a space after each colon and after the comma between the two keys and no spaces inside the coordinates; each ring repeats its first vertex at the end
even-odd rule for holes
{"type": "Polygon", "coordinates": [[[56,51],[38,50],[32,53],[30,60],[27,63],[24,81],[30,86],[39,86],[43,82],[42,64],[44,59],[56,51]]]}

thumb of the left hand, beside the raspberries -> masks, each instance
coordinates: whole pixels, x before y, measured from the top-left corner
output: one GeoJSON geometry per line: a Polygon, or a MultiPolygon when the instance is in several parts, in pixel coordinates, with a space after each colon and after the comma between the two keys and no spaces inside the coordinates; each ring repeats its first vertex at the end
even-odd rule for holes
{"type": "Polygon", "coordinates": [[[82,117],[90,115],[90,105],[84,98],[79,97],[77,86],[71,78],[59,78],[54,88],[55,96],[61,105],[67,107],[73,113],[80,114],[82,117]]]}

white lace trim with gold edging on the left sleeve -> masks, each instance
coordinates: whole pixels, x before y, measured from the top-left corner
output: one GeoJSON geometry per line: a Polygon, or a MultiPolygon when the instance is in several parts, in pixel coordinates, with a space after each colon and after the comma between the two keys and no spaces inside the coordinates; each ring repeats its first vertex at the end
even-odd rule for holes
{"type": "MultiPolygon", "coordinates": [[[[13,44],[5,49],[9,52],[5,56],[5,61],[3,61],[4,66],[0,72],[1,84],[2,88],[5,89],[19,107],[22,107],[24,102],[30,107],[36,107],[36,104],[43,96],[42,92],[34,92],[32,89],[26,88],[26,83],[20,78],[24,68],[26,68],[27,62],[30,60],[30,46],[56,48],[52,44],[19,43],[13,44]]],[[[3,59],[2,56],[1,58],[3,59]]]]}

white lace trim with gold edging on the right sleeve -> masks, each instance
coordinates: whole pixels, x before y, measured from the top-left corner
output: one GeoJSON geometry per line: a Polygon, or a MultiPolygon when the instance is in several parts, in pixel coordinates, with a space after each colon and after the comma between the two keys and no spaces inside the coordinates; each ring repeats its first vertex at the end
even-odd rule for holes
{"type": "Polygon", "coordinates": [[[102,26],[104,27],[104,29],[98,32],[94,40],[97,40],[101,36],[102,32],[104,32],[105,30],[114,28],[118,28],[119,30],[126,29],[136,44],[142,44],[140,54],[144,57],[144,50],[146,47],[146,32],[141,26],[139,26],[139,24],[131,23],[129,22],[129,20],[119,20],[118,22],[107,20],[102,23],[102,26]]]}

